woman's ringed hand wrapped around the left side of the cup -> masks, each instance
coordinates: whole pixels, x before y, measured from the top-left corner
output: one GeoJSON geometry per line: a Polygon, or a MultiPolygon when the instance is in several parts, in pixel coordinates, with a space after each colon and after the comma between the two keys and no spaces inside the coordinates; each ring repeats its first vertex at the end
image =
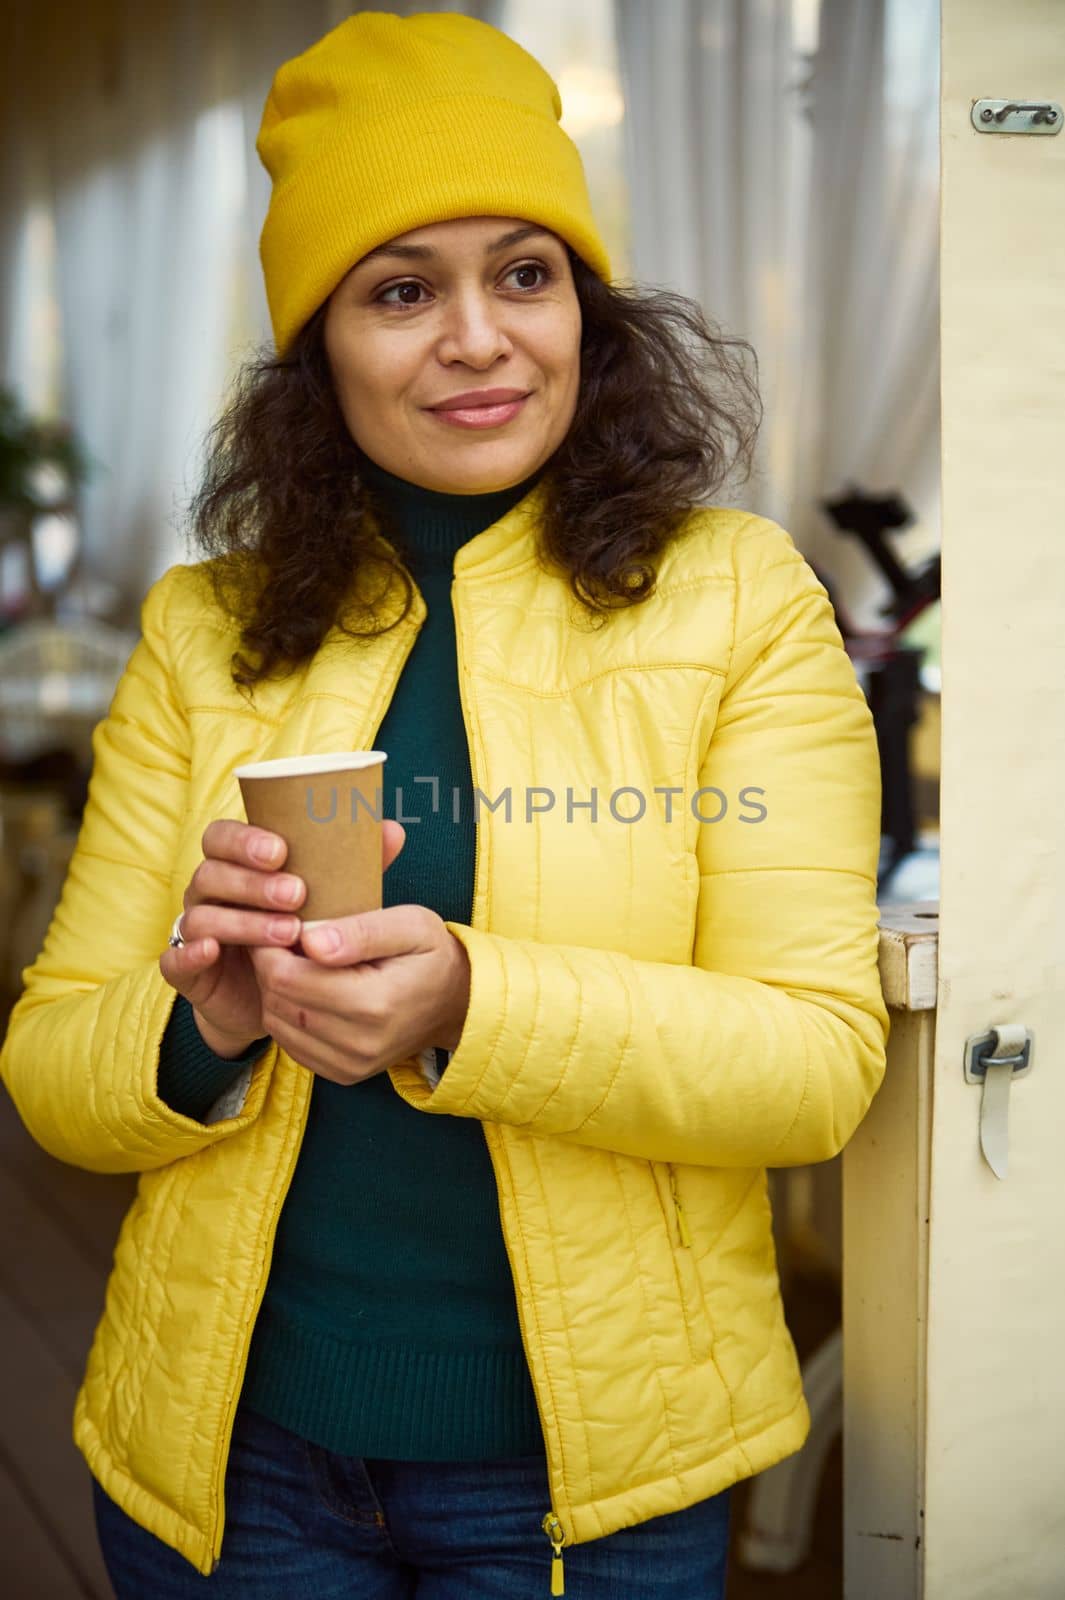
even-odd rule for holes
{"type": "MultiPolygon", "coordinates": [[[[382,824],[385,867],[405,837],[398,822],[382,824]]],[[[184,894],[185,942],[160,955],[163,978],[190,1002],[200,1034],[219,1056],[238,1056],[270,1032],[251,954],[264,947],[278,952],[299,938],[302,925],[293,912],[307,885],[278,870],[286,850],[278,834],[249,822],[208,822],[203,861],[184,894]]]]}

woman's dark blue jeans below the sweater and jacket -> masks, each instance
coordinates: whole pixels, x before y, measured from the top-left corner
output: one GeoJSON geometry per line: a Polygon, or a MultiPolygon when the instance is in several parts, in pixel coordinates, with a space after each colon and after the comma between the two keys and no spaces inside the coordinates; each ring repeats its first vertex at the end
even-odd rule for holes
{"type": "MultiPolygon", "coordinates": [[[[117,1600],[547,1600],[540,1456],[363,1461],[240,1406],[203,1578],[93,1483],[117,1600]]],[[[563,1549],[566,1600],[723,1600],[729,1494],[563,1549]]]]}

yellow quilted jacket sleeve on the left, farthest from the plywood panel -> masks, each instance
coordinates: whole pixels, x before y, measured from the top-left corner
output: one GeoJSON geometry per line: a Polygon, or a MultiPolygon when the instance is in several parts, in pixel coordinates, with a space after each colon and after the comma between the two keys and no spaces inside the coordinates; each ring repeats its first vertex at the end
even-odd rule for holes
{"type": "Polygon", "coordinates": [[[257,1115],[278,1050],[243,1106],[205,1125],[158,1094],[176,990],[158,957],[181,910],[171,862],[185,816],[189,725],[171,672],[176,566],[147,592],[141,638],[93,730],[88,800],[59,904],[11,1011],[0,1077],[45,1150],[91,1171],[149,1171],[233,1138],[257,1115]]]}

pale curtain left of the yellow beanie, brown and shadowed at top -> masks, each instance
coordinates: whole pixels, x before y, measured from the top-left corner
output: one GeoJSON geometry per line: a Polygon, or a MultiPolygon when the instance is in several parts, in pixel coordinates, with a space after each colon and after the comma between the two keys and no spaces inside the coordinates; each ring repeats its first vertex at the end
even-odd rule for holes
{"type": "MultiPolygon", "coordinates": [[[[352,10],[51,0],[14,34],[8,74],[32,85],[34,107],[19,166],[43,170],[54,216],[62,410],[96,462],[86,568],[117,589],[123,621],[166,566],[195,558],[182,509],[206,429],[233,365],[270,336],[257,261],[269,179],[254,152],[270,78],[352,10]]],[[[494,5],[377,10],[491,16],[494,5]]],[[[19,173],[5,173],[3,195],[16,192],[19,173]]],[[[0,270],[18,322],[2,341],[8,371],[26,347],[18,282],[0,270]]]]}

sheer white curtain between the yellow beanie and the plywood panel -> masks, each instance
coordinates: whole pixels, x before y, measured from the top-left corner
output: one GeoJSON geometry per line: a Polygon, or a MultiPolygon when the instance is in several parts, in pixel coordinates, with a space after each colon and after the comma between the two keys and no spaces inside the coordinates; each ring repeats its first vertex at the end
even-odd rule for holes
{"type": "Polygon", "coordinates": [[[766,421],[732,498],[859,622],[886,597],[819,502],[900,490],[939,523],[939,3],[616,0],[635,277],[752,341],[766,421]]]}

